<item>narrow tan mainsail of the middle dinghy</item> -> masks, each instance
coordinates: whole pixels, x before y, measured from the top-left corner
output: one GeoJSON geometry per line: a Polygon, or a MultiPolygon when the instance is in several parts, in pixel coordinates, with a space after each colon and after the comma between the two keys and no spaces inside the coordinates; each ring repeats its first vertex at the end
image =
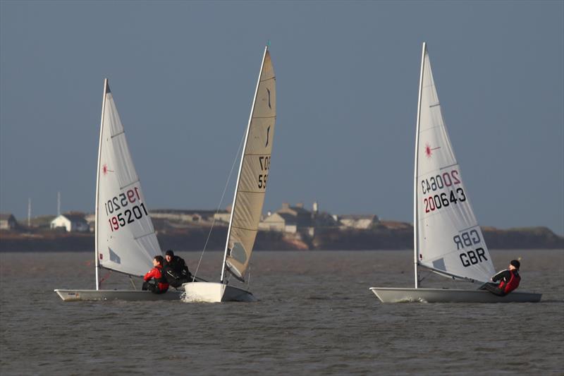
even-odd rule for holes
{"type": "MultiPolygon", "coordinates": [[[[245,275],[257,236],[269,178],[275,121],[276,78],[270,52],[265,47],[247,126],[226,243],[225,264],[238,279],[243,279],[245,275]]],[[[221,280],[223,281],[223,269],[221,280]]]]}

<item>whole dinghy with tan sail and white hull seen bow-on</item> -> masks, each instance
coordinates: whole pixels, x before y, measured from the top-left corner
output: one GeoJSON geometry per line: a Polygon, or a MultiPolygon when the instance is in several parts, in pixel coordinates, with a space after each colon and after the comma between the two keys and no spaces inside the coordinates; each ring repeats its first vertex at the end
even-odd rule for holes
{"type": "Polygon", "coordinates": [[[266,183],[269,176],[274,123],[276,121],[276,78],[268,46],[259,71],[259,79],[252,102],[245,133],[221,277],[219,282],[190,282],[183,284],[185,301],[225,302],[256,301],[249,291],[229,286],[226,272],[244,281],[262,213],[266,183]]]}

